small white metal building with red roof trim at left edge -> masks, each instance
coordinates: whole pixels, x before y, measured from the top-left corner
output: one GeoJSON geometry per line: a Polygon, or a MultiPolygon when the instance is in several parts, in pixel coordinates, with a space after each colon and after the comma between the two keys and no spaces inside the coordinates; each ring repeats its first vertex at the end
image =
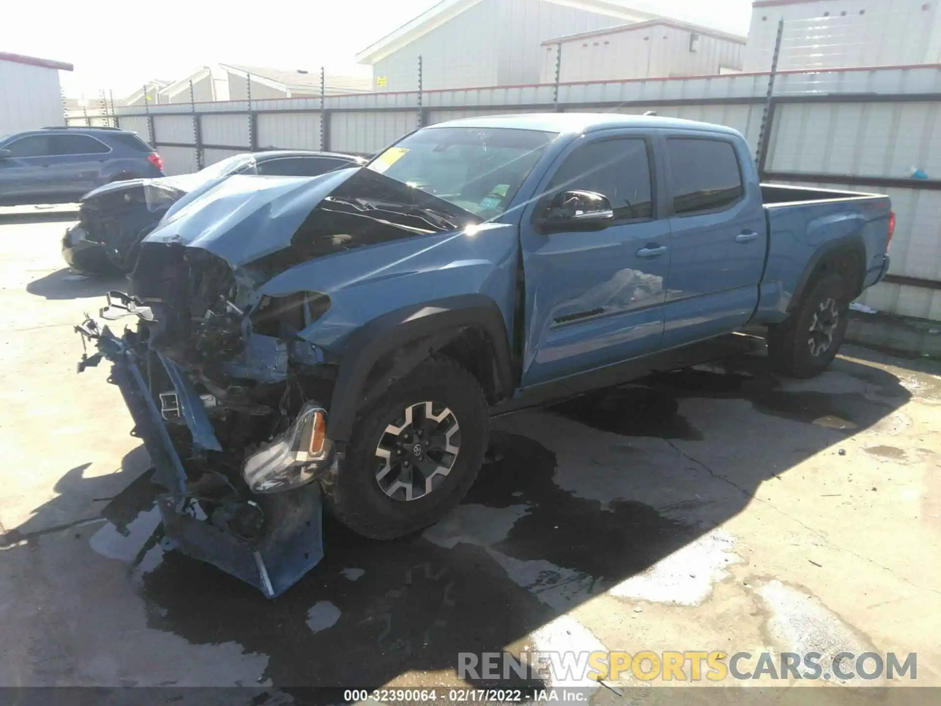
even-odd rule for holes
{"type": "Polygon", "coordinates": [[[58,72],[72,64],[0,52],[0,135],[64,125],[58,72]]]}

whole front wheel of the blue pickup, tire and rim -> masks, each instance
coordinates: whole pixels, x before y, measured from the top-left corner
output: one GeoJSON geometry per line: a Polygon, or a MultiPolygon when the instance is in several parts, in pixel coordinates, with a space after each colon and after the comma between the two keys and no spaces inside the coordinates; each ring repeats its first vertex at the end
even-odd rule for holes
{"type": "Polygon", "coordinates": [[[486,452],[489,417],[477,380],[432,358],[361,409],[339,472],[324,483],[334,516],[359,535],[402,537],[460,502],[486,452]]]}

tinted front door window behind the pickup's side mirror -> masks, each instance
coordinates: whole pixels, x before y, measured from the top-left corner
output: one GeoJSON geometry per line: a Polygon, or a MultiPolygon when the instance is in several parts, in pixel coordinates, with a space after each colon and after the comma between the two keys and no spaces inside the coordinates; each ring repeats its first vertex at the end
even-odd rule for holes
{"type": "Polygon", "coordinates": [[[646,142],[634,137],[606,139],[578,148],[549,185],[550,194],[573,189],[608,197],[617,220],[653,217],[646,142]]]}

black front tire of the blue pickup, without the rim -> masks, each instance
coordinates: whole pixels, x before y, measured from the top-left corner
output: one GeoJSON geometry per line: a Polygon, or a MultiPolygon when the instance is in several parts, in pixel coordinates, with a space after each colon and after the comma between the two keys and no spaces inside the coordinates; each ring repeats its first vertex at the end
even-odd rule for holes
{"type": "Polygon", "coordinates": [[[323,483],[327,508],[357,534],[374,539],[402,537],[433,524],[473,484],[484,461],[488,432],[486,398],[477,380],[449,358],[430,358],[375,404],[359,410],[347,456],[338,473],[323,483]],[[403,409],[426,400],[452,410],[460,427],[459,451],[437,488],[414,500],[395,500],[376,480],[376,447],[403,409]]]}

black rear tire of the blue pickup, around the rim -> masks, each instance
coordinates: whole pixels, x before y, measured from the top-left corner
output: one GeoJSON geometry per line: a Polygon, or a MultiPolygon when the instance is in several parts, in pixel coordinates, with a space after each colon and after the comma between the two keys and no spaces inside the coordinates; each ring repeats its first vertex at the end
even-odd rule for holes
{"type": "MultiPolygon", "coordinates": [[[[768,328],[768,360],[774,370],[790,377],[820,375],[837,356],[843,343],[849,310],[850,287],[841,275],[823,275],[811,281],[789,318],[768,328]],[[817,321],[815,316],[832,316],[834,312],[837,322],[832,328],[832,339],[815,354],[810,343],[811,328],[817,321]]],[[[818,343],[817,347],[820,345],[818,343]]]]}

